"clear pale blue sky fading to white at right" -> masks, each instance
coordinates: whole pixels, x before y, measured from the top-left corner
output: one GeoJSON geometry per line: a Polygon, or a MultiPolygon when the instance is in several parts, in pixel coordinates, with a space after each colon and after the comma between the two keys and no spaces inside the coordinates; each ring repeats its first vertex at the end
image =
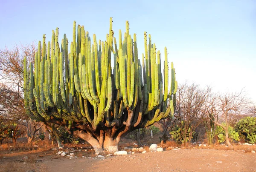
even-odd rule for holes
{"type": "Polygon", "coordinates": [[[178,83],[244,88],[256,102],[255,0],[0,0],[0,48],[37,43],[43,34],[49,41],[56,27],[71,40],[74,20],[105,40],[110,17],[116,37],[129,21],[139,54],[144,31],[161,52],[166,46],[178,83]]]}

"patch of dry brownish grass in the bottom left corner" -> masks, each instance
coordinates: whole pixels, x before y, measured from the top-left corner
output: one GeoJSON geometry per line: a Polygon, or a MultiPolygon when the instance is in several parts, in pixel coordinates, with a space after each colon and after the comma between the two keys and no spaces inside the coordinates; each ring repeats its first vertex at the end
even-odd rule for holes
{"type": "Polygon", "coordinates": [[[36,172],[47,172],[48,167],[42,163],[0,163],[0,172],[27,172],[32,170],[36,172]]]}

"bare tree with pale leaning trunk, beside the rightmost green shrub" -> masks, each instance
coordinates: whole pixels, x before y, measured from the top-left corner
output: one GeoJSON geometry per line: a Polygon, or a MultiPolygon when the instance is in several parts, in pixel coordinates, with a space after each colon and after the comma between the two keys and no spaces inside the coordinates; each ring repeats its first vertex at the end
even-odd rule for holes
{"type": "Polygon", "coordinates": [[[230,148],[233,148],[228,135],[230,121],[244,114],[249,105],[250,101],[243,90],[241,92],[227,92],[224,95],[218,94],[210,100],[209,106],[214,117],[212,120],[225,130],[226,143],[230,148]],[[223,125],[223,122],[226,125],[223,125]]]}

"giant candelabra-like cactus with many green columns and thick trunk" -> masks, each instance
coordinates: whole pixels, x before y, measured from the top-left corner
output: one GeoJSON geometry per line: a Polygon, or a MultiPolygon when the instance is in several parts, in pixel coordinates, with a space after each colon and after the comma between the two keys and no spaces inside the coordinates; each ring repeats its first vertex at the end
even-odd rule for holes
{"type": "Polygon", "coordinates": [[[42,48],[39,42],[34,70],[32,63],[28,70],[24,60],[24,97],[30,118],[67,126],[96,152],[113,152],[123,134],[173,115],[177,81],[171,63],[168,86],[166,48],[162,74],[160,51],[146,32],[140,62],[136,34],[132,38],[128,21],[124,38],[119,31],[118,45],[112,18],[106,41],[98,43],[84,26],[76,27],[74,22],[73,27],[70,51],[66,34],[60,41],[57,28],[51,42],[45,43],[45,35],[42,48]]]}

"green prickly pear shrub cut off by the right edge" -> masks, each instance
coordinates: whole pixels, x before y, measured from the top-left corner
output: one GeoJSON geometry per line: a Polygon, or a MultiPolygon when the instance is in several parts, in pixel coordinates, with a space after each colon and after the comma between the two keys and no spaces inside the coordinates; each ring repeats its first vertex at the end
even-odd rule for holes
{"type": "Polygon", "coordinates": [[[256,143],[256,118],[246,117],[236,123],[236,132],[248,143],[256,143]]]}

